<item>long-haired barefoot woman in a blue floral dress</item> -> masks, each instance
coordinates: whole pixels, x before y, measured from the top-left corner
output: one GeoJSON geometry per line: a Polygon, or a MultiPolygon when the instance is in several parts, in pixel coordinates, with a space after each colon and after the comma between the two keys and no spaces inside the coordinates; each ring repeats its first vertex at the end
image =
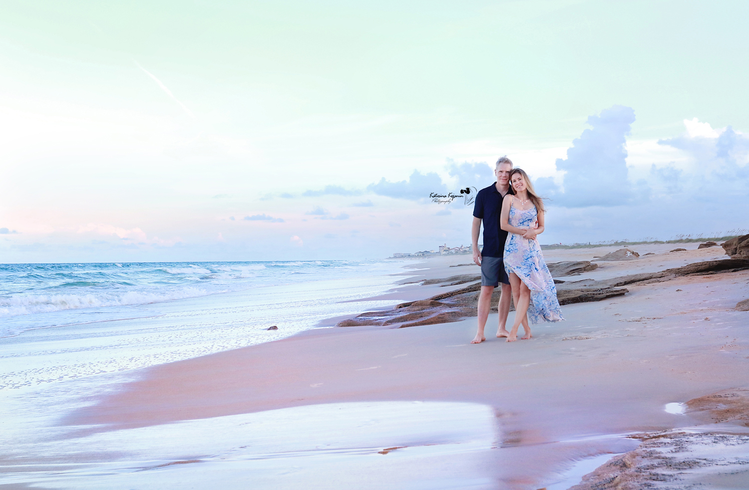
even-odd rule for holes
{"type": "Polygon", "coordinates": [[[523,338],[530,339],[529,316],[533,324],[539,319],[558,322],[563,318],[557,287],[536,240],[536,235],[544,231],[544,203],[520,168],[510,172],[510,186],[515,195],[506,195],[502,202],[500,227],[508,232],[504,263],[515,300],[515,323],[507,341],[513,342],[521,323],[525,330],[523,338]]]}

